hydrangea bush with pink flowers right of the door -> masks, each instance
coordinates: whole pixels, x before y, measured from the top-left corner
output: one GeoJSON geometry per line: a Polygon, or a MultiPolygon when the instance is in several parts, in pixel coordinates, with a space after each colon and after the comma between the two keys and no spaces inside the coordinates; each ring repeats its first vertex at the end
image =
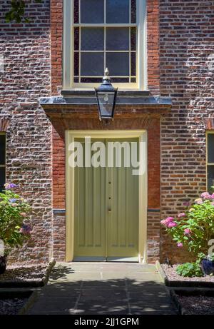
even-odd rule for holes
{"type": "Polygon", "coordinates": [[[214,193],[202,193],[187,211],[176,218],[165,218],[161,223],[178,248],[185,246],[195,256],[208,255],[208,242],[214,238],[214,193]]]}

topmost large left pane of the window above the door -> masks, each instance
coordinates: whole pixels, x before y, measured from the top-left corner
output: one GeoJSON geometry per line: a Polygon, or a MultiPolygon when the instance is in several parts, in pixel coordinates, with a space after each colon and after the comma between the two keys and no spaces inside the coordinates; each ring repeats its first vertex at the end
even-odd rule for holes
{"type": "Polygon", "coordinates": [[[104,23],[104,0],[81,0],[81,23],[104,23]]]}

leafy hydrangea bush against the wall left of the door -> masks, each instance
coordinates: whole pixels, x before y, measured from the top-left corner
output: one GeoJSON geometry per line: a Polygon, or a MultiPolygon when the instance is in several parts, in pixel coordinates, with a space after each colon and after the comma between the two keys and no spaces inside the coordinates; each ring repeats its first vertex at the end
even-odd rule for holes
{"type": "Polygon", "coordinates": [[[0,239],[4,241],[6,254],[11,248],[22,246],[31,233],[31,228],[25,223],[31,207],[12,191],[16,187],[13,183],[6,183],[4,193],[0,193],[0,239]]]}

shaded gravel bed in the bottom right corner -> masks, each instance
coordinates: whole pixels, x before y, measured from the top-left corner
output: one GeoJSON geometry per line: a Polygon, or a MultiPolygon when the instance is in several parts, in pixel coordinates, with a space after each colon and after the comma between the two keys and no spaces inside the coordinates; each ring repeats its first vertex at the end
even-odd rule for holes
{"type": "Polygon", "coordinates": [[[214,297],[178,296],[178,300],[190,315],[214,315],[214,297]]]}

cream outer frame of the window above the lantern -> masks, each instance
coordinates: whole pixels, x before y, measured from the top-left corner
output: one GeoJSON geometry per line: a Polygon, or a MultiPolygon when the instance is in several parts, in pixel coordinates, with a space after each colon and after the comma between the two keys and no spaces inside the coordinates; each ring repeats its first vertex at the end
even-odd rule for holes
{"type": "MultiPolygon", "coordinates": [[[[148,90],[146,53],[146,0],[136,0],[137,49],[136,83],[113,83],[122,90],[148,90]]],[[[126,25],[126,24],[125,24],[126,25]]],[[[106,24],[109,26],[109,24],[106,24]]],[[[118,25],[119,26],[119,25],[118,25]]],[[[111,70],[111,68],[108,68],[111,70]]],[[[104,74],[104,72],[103,72],[104,74]]],[[[111,76],[111,72],[110,72],[111,76]]],[[[100,83],[73,83],[73,0],[63,0],[63,91],[93,89],[100,83]]]]}

